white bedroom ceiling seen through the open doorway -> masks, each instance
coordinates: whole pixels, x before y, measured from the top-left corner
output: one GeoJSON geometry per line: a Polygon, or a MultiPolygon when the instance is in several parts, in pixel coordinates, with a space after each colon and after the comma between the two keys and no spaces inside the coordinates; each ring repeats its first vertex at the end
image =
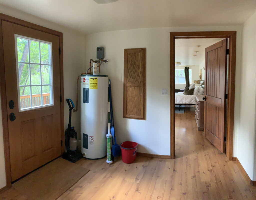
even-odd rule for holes
{"type": "Polygon", "coordinates": [[[220,40],[223,38],[175,39],[175,62],[181,65],[200,65],[205,60],[205,48],[220,40]]]}

